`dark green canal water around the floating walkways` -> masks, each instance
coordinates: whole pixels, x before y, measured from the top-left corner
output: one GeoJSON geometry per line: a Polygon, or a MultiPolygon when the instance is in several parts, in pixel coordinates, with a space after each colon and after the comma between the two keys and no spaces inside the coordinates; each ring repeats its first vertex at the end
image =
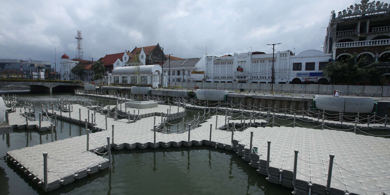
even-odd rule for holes
{"type": "MultiPolygon", "coordinates": [[[[99,103],[114,100],[72,94],[19,94],[19,101],[56,101],[88,98],[99,103]]],[[[186,121],[197,111],[188,111],[186,121]]],[[[82,125],[58,121],[55,140],[85,134],[82,125]]],[[[0,135],[0,154],[50,141],[48,132],[15,129],[0,135]]],[[[44,193],[20,171],[0,160],[0,194],[289,194],[292,189],[269,183],[232,151],[208,146],[122,149],[112,151],[113,168],[44,193]],[[21,175],[20,175],[21,174],[21,175]]]]}

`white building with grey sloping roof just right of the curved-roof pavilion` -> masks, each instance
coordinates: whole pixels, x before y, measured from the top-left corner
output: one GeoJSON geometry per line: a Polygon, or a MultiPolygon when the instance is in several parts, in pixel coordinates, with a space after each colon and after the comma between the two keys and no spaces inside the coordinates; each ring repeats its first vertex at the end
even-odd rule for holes
{"type": "Polygon", "coordinates": [[[162,65],[165,81],[170,82],[196,82],[204,79],[204,57],[167,60],[162,65]],[[170,70],[170,72],[169,72],[170,70]]]}

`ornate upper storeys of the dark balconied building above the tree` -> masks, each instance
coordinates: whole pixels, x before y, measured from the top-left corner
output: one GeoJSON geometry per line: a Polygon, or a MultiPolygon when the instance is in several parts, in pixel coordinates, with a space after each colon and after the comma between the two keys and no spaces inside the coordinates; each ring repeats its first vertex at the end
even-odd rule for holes
{"type": "MultiPolygon", "coordinates": [[[[380,1],[350,5],[332,11],[323,44],[325,53],[340,60],[354,53],[367,62],[390,62],[390,7],[380,1]]],[[[389,65],[387,63],[387,65],[389,65]]]]}

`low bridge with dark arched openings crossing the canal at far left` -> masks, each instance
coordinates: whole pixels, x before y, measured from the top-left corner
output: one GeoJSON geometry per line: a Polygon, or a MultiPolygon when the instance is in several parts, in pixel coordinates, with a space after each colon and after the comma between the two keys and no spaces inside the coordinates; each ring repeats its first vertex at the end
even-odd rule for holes
{"type": "Polygon", "coordinates": [[[6,86],[6,85],[29,86],[30,92],[35,92],[35,93],[73,92],[74,89],[83,87],[83,83],[72,83],[72,82],[0,81],[0,86],[6,86]]]}

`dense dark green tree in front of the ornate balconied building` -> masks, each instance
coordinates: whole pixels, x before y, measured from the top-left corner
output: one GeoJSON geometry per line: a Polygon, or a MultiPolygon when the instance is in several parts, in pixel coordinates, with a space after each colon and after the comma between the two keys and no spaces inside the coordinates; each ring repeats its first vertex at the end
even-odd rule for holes
{"type": "Polygon", "coordinates": [[[356,54],[344,60],[329,62],[323,73],[333,84],[360,84],[368,82],[376,84],[378,72],[375,63],[368,63],[365,57],[356,58],[356,54]]]}

